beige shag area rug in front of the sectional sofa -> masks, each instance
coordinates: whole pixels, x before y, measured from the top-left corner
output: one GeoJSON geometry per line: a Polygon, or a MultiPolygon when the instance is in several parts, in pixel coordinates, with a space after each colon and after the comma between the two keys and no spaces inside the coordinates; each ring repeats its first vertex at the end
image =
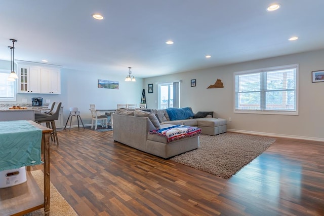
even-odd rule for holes
{"type": "Polygon", "coordinates": [[[216,136],[200,134],[199,137],[198,149],[171,160],[225,179],[249,164],[275,141],[271,137],[230,132],[216,136]]]}

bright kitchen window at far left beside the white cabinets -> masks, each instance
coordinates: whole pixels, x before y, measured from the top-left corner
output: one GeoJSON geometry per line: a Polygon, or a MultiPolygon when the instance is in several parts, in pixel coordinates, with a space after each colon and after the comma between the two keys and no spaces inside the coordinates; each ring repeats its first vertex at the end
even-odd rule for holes
{"type": "Polygon", "coordinates": [[[0,101],[16,101],[16,81],[8,81],[9,73],[0,71],[0,101]]]}

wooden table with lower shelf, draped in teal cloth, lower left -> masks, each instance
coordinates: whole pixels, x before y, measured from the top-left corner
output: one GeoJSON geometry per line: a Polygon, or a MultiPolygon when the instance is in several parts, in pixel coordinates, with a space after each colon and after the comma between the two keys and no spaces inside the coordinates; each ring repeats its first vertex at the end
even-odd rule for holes
{"type": "MultiPolygon", "coordinates": [[[[50,215],[50,133],[52,132],[52,129],[43,127],[42,125],[39,125],[35,122],[28,121],[16,121],[16,122],[2,122],[1,125],[5,125],[6,128],[19,128],[19,126],[23,126],[24,128],[28,128],[26,131],[28,133],[31,133],[34,131],[34,129],[30,129],[31,126],[34,126],[35,128],[38,128],[42,130],[42,139],[39,145],[35,145],[36,149],[43,148],[43,161],[44,161],[44,194],[42,193],[41,189],[38,187],[37,183],[35,182],[31,172],[30,167],[27,167],[27,182],[15,185],[13,187],[7,187],[0,189],[0,215],[23,215],[25,213],[40,209],[44,207],[44,214],[50,215]],[[9,124],[9,127],[8,127],[9,124]],[[10,125],[13,125],[13,127],[10,127],[10,125]],[[42,143],[42,144],[41,144],[42,143]],[[43,146],[43,147],[42,147],[43,146]]],[[[6,137],[8,133],[10,134],[18,134],[19,131],[13,129],[12,131],[3,131],[0,134],[1,137],[6,137]]],[[[26,132],[25,131],[25,132],[26,132]]],[[[21,148],[15,148],[17,146],[18,142],[13,139],[7,139],[7,141],[11,143],[12,151],[14,151],[14,154],[18,154],[15,151],[19,151],[21,148]]],[[[4,143],[1,143],[4,144],[4,143]]],[[[29,141],[26,143],[26,145],[32,145],[33,141],[29,141]]],[[[1,146],[1,145],[0,145],[1,146]]],[[[31,147],[27,147],[28,149],[32,149],[31,147]]],[[[4,148],[2,146],[2,151],[4,151],[4,148]]],[[[35,149],[35,148],[33,148],[35,149]]],[[[8,151],[8,148],[7,148],[8,151]]],[[[6,153],[6,152],[5,152],[6,153]]],[[[26,152],[27,153],[27,152],[26,152]]],[[[8,152],[8,154],[12,154],[11,150],[8,152]]],[[[34,155],[31,155],[30,152],[28,152],[28,159],[34,159],[34,155]]],[[[41,154],[41,151],[39,151],[39,154],[41,154]]],[[[39,155],[39,158],[41,156],[39,155]]],[[[28,162],[28,160],[23,160],[24,158],[21,158],[22,160],[16,160],[17,165],[19,166],[22,163],[28,162]]],[[[10,164],[11,165],[11,164],[10,164]]],[[[6,166],[5,166],[6,167],[6,166]]]]}

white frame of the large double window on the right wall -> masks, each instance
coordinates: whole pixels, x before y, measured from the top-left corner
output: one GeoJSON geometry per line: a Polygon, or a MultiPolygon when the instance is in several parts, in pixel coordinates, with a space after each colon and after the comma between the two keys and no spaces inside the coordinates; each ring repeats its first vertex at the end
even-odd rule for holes
{"type": "Polygon", "coordinates": [[[245,114],[270,114],[270,115],[299,115],[299,64],[290,64],[290,65],[282,65],[282,66],[274,66],[274,67],[267,67],[267,68],[260,68],[260,69],[253,69],[253,70],[244,70],[244,71],[237,71],[233,74],[233,81],[234,81],[234,97],[233,97],[233,111],[234,113],[245,113],[245,114]],[[295,89],[295,98],[296,98],[296,110],[289,111],[289,110],[263,110],[266,104],[265,93],[269,90],[266,89],[266,83],[260,78],[260,107],[261,110],[239,110],[236,109],[236,101],[238,100],[238,95],[236,92],[236,76],[237,75],[245,75],[245,74],[257,74],[257,73],[268,73],[271,71],[277,70],[285,70],[285,69],[296,69],[296,89],[295,89]]]}

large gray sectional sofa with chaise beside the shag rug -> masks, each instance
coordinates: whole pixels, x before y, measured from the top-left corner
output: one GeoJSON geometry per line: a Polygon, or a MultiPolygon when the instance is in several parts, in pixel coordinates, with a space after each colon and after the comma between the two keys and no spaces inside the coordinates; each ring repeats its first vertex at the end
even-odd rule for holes
{"type": "Polygon", "coordinates": [[[170,120],[166,110],[117,109],[112,114],[113,139],[130,147],[170,158],[199,147],[199,134],[169,141],[166,137],[151,134],[149,131],[186,125],[201,128],[201,133],[217,135],[226,132],[226,120],[217,118],[191,118],[170,120]]]}

